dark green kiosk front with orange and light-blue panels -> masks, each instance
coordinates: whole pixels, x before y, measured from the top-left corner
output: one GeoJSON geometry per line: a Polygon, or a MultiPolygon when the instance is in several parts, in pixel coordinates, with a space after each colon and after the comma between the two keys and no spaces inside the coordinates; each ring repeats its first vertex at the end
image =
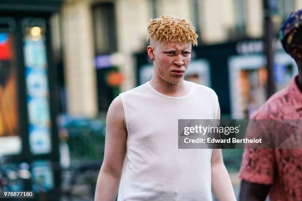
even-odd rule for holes
{"type": "Polygon", "coordinates": [[[1,164],[1,178],[3,172],[16,173],[2,190],[34,190],[42,200],[57,200],[61,182],[50,34],[51,14],[61,3],[0,1],[0,156],[8,160],[1,164]]]}

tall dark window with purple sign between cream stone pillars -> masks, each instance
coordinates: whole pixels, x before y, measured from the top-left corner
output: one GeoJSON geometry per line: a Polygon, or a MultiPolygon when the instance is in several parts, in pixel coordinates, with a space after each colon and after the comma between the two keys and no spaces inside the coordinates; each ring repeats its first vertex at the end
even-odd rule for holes
{"type": "Polygon", "coordinates": [[[95,67],[97,76],[98,108],[107,111],[112,100],[118,95],[118,86],[108,82],[108,76],[117,71],[113,67],[111,54],[117,51],[116,22],[113,3],[100,3],[92,8],[95,44],[95,67]]]}

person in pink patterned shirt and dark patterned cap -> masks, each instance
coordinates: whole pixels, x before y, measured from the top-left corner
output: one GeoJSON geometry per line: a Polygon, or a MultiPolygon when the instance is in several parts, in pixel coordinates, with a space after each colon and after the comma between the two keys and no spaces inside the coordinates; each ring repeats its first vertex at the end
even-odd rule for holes
{"type": "MultiPolygon", "coordinates": [[[[280,39],[299,74],[251,119],[302,120],[302,10],[281,25],[280,39]]],[[[301,142],[302,136],[298,137],[301,142]]],[[[270,201],[302,201],[302,149],[245,149],[239,177],[241,201],[264,201],[267,194],[270,201]]]]}

